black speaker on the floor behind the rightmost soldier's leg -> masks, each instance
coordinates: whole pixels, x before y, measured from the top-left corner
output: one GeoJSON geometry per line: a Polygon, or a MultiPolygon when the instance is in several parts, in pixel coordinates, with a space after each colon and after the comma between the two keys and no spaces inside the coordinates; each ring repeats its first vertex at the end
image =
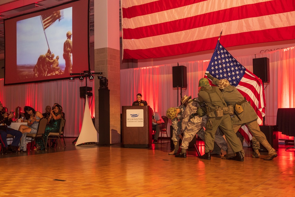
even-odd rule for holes
{"type": "MultiPolygon", "coordinates": [[[[278,150],[278,126],[277,125],[262,125],[259,126],[260,131],[264,133],[267,141],[275,150],[278,150]]],[[[260,152],[268,152],[268,150],[260,144],[260,152]]]]}

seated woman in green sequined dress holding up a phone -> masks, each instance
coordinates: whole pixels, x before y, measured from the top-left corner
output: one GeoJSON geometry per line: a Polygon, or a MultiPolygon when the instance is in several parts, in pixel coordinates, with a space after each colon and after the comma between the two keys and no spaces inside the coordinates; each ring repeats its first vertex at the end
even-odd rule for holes
{"type": "MultiPolygon", "coordinates": [[[[50,111],[50,116],[47,119],[49,125],[45,128],[45,133],[43,136],[43,140],[46,143],[47,136],[50,132],[58,133],[59,132],[59,126],[61,118],[63,117],[63,108],[60,105],[55,105],[54,109],[50,111]]],[[[42,139],[39,139],[37,141],[37,144],[40,145],[41,150],[45,150],[45,146],[42,142],[42,139]]]]}

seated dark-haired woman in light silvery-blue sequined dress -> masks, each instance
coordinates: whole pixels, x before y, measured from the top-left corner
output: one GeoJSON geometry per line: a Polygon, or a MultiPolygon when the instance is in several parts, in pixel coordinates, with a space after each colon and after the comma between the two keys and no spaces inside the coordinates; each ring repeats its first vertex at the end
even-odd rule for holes
{"type": "Polygon", "coordinates": [[[27,133],[37,133],[39,121],[43,115],[30,106],[24,106],[24,115],[28,120],[28,125],[19,126],[19,131],[22,132],[22,140],[20,141],[19,150],[27,151],[27,133]]]}

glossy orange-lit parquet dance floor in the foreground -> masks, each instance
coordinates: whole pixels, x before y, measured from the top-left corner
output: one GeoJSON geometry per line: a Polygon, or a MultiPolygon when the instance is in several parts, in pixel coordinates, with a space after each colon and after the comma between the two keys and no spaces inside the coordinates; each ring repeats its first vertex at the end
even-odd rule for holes
{"type": "Polygon", "coordinates": [[[201,160],[194,149],[176,158],[167,154],[170,144],[136,149],[66,140],[65,150],[0,155],[0,196],[295,196],[294,149],[284,144],[273,161],[252,158],[244,147],[245,161],[237,162],[201,160]]]}

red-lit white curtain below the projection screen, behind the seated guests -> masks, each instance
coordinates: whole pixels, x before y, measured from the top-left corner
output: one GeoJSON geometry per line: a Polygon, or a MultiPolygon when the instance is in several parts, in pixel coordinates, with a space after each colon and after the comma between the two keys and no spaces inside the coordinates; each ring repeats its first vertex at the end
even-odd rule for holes
{"type": "MultiPolygon", "coordinates": [[[[94,80],[87,79],[87,86],[94,87],[94,80]]],[[[79,87],[85,86],[85,79],[58,80],[53,82],[32,83],[4,86],[4,79],[0,79],[0,101],[8,111],[16,107],[28,105],[36,111],[45,113],[47,105],[58,103],[65,113],[66,137],[77,137],[83,121],[84,99],[80,98],[79,87]]],[[[93,88],[94,94],[94,88],[93,88]]],[[[89,100],[90,113],[94,116],[94,96],[89,100]],[[93,100],[92,100],[93,98],[93,100]],[[91,102],[92,101],[92,102],[91,102]]]]}

